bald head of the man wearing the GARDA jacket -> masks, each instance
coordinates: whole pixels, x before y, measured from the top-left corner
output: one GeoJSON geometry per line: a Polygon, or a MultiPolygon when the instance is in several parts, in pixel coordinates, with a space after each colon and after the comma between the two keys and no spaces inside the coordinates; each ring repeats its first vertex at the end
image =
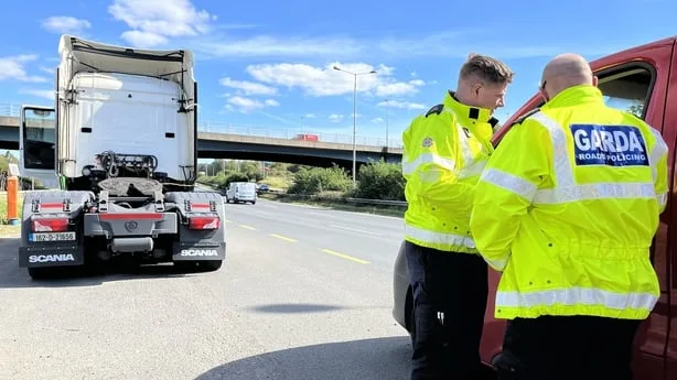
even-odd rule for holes
{"type": "Polygon", "coordinates": [[[550,61],[544,72],[541,84],[546,84],[548,98],[578,85],[597,85],[588,61],[578,54],[560,54],[550,61]]]}

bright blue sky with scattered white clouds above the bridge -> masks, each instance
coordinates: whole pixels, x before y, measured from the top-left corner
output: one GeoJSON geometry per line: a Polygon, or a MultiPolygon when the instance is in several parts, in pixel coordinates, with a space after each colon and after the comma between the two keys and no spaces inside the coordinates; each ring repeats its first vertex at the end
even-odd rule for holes
{"type": "Polygon", "coordinates": [[[554,55],[593,59],[677,34],[669,0],[342,2],[90,0],[10,1],[0,34],[0,112],[13,102],[52,105],[62,33],[132,47],[195,53],[201,122],[399,140],[417,113],[453,88],[471,52],[515,72],[506,119],[537,89],[554,55]],[[565,6],[566,4],[566,6],[565,6]]]}

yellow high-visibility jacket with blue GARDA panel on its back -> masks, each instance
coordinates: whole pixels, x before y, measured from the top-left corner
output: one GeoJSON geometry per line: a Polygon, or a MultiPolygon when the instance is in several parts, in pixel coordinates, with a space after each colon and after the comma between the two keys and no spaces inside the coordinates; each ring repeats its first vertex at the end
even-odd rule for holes
{"type": "Polygon", "coordinates": [[[646,318],[659,296],[649,248],[667,181],[660,133],[606,107],[597,87],[571,87],[514,124],[470,224],[503,271],[495,316],[646,318]]]}

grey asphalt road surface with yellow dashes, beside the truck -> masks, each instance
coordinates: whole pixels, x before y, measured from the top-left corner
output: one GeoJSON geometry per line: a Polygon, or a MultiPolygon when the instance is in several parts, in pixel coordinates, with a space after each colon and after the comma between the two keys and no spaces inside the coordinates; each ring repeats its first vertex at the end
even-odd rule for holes
{"type": "Polygon", "coordinates": [[[408,379],[398,218],[226,205],[217,272],[31,281],[0,239],[0,379],[408,379]]]}

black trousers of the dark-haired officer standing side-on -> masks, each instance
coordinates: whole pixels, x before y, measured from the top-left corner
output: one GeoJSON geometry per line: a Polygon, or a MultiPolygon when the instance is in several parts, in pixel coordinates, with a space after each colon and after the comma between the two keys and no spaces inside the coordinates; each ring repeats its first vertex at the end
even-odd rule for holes
{"type": "Polygon", "coordinates": [[[413,290],[411,380],[472,380],[481,373],[480,340],[488,293],[477,254],[406,242],[413,290]]]}

